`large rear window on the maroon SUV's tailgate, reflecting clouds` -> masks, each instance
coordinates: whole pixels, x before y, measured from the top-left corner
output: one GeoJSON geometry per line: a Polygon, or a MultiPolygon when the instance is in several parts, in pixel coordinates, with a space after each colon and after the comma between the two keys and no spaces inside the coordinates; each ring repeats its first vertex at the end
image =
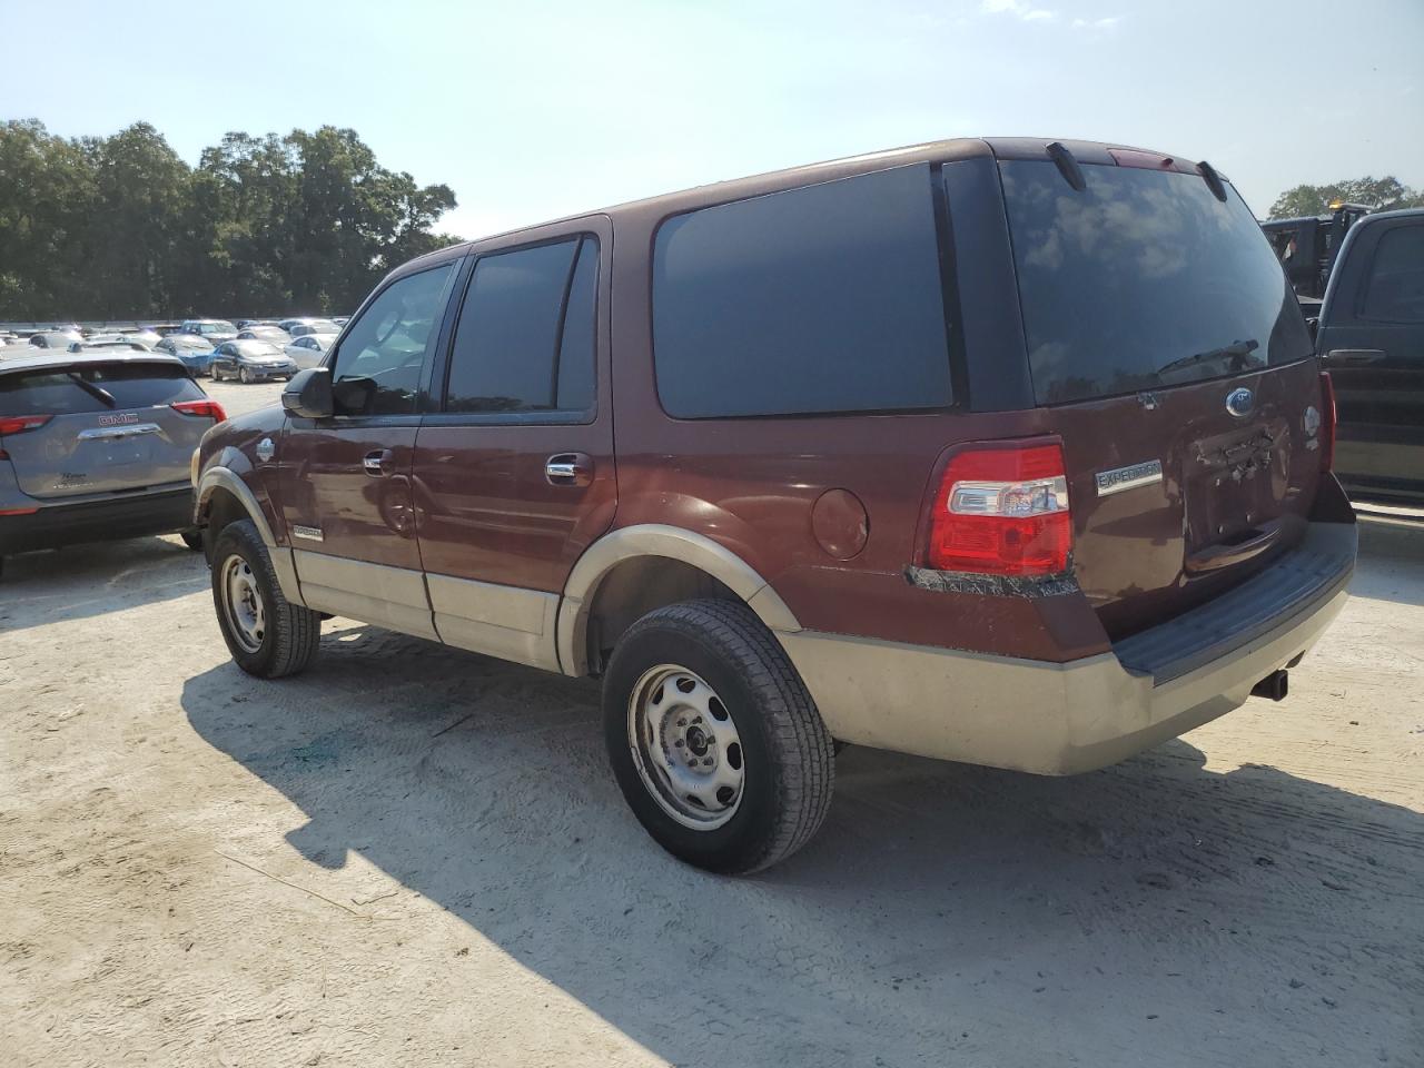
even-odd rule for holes
{"type": "Polygon", "coordinates": [[[1040,404],[1134,393],[1309,356],[1270,242],[1192,174],[1000,164],[1040,404]]]}

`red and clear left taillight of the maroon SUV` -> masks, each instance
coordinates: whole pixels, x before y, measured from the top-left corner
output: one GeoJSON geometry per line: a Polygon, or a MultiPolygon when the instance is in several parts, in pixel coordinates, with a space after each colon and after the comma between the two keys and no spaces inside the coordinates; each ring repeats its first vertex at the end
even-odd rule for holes
{"type": "Polygon", "coordinates": [[[970,447],[950,460],[930,517],[928,567],[1057,575],[1071,551],[1062,446],[970,447]]]}

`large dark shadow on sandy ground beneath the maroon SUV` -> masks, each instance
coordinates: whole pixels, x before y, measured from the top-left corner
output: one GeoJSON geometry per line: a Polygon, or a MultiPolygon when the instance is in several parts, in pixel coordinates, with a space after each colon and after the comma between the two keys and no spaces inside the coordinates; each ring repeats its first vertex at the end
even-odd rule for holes
{"type": "Polygon", "coordinates": [[[847,749],[812,846],[732,880],[644,836],[587,682],[357,628],[182,705],[308,860],[363,856],[674,1064],[1418,1048],[1424,817],[1183,742],[1075,779],[847,749]]]}

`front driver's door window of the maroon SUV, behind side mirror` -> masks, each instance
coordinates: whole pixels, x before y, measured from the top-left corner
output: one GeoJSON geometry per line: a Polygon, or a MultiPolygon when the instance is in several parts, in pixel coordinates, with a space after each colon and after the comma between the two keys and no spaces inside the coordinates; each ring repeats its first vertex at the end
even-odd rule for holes
{"type": "Polygon", "coordinates": [[[440,332],[451,261],[389,285],[342,340],[332,369],[339,416],[402,416],[416,410],[426,350],[440,332]]]}

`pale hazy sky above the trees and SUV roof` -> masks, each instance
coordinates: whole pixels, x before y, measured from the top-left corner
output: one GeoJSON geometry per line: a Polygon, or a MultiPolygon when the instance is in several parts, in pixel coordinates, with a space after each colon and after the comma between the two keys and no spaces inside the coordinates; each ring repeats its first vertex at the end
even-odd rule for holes
{"type": "Polygon", "coordinates": [[[963,135],[1209,159],[1259,216],[1424,187],[1424,0],[0,0],[0,118],[145,120],[189,162],[352,127],[463,238],[963,135]]]}

